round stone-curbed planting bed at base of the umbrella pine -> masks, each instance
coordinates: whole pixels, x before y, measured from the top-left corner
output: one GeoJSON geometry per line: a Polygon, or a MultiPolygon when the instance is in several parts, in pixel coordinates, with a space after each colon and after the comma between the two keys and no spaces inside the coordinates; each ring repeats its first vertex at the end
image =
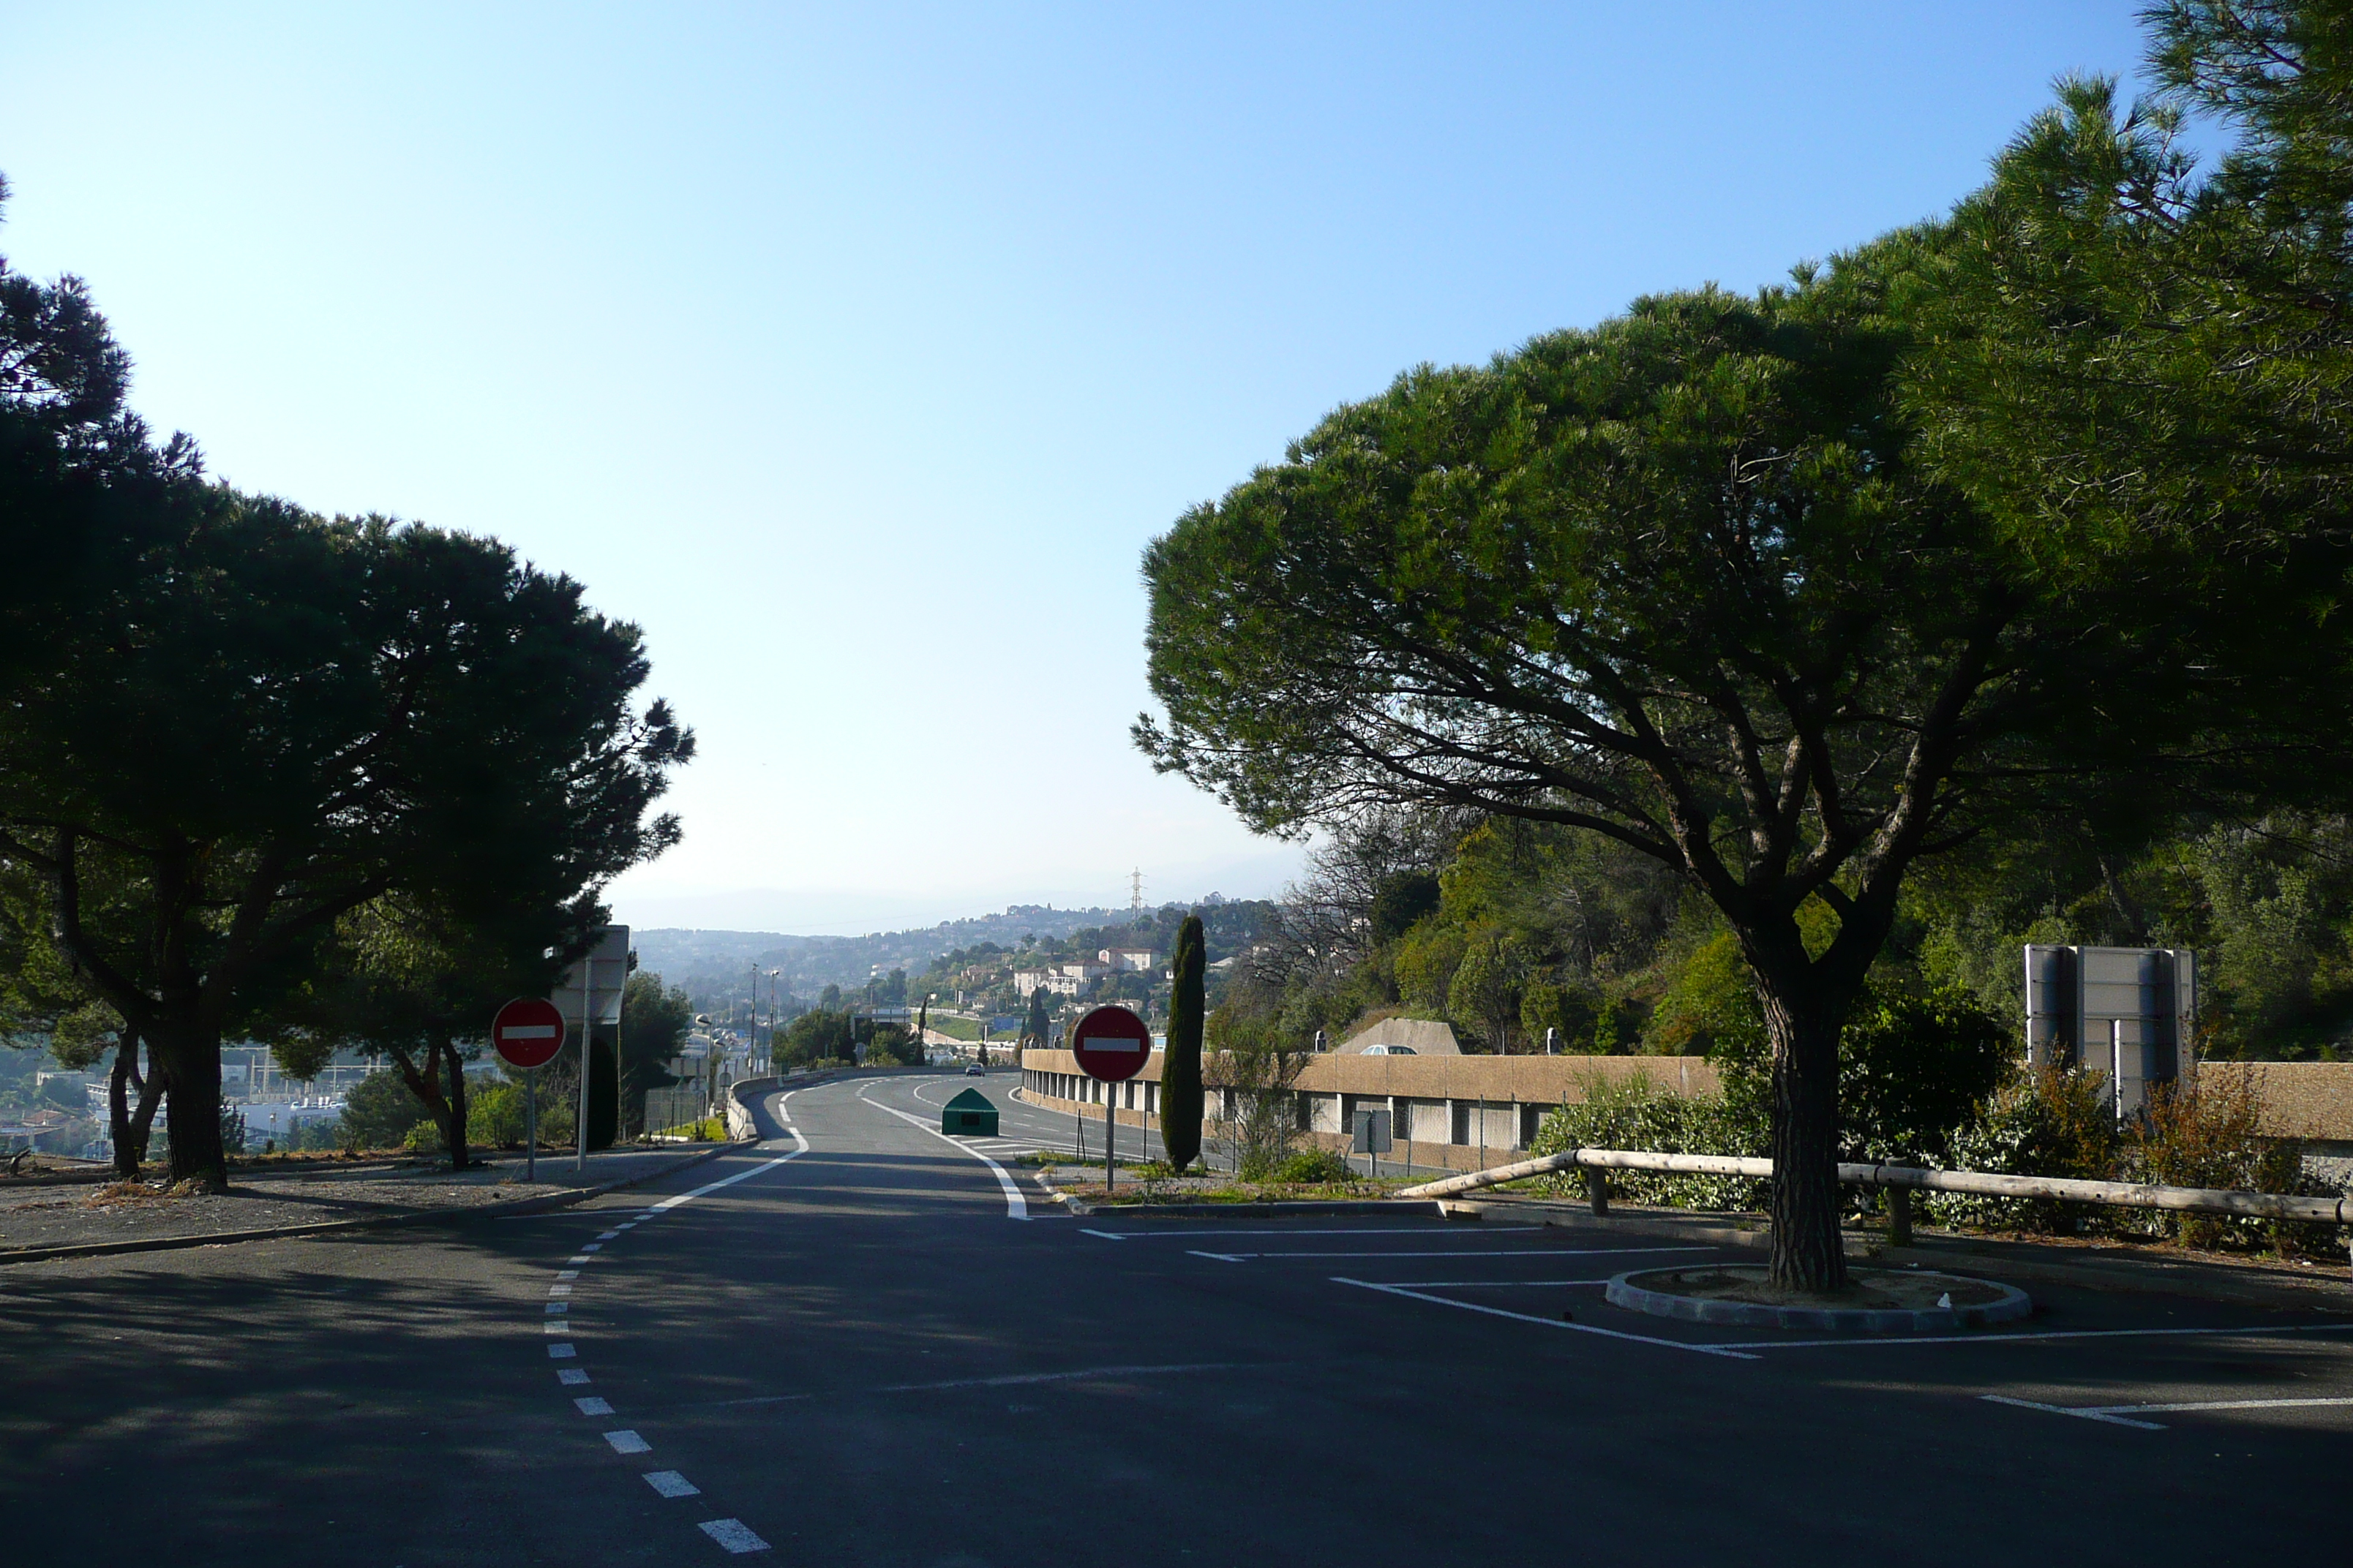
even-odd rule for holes
{"type": "Polygon", "coordinates": [[[1922,1328],[1984,1328],[2033,1312],[2017,1286],[1927,1269],[1849,1269],[1845,1298],[1798,1298],[1774,1291],[1758,1262],[1706,1262],[1687,1269],[1642,1269],[1609,1281],[1609,1305],[1689,1324],[1748,1328],[1833,1328],[1849,1333],[1913,1333],[1922,1328]]]}

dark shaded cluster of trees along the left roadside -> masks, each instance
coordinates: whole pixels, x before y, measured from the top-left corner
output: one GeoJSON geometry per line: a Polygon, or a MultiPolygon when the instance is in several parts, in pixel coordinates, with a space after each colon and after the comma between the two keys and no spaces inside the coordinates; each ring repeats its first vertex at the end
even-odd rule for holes
{"type": "Polygon", "coordinates": [[[464,1159],[489,1011],[675,842],[694,738],[579,583],[221,484],[127,395],[87,289],[0,261],[0,1030],[111,1060],[125,1175],[162,1100],[226,1185],[224,1039],[384,1053],[464,1159]]]}

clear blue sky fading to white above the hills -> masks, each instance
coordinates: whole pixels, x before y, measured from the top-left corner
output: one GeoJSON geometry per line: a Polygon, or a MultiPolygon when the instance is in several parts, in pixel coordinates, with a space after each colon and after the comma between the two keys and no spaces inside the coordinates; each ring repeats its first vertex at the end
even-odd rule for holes
{"type": "Polygon", "coordinates": [[[621,919],[1273,893],[1136,559],[1417,362],[1946,209],[2125,0],[0,0],[0,252],[219,475],[499,534],[701,733],[621,919]]]}

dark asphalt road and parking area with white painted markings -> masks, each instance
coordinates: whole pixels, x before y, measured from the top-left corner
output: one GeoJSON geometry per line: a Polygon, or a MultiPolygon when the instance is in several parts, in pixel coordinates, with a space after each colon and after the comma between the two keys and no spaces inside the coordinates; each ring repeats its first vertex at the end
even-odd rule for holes
{"type": "Polygon", "coordinates": [[[2353,1314],[1668,1324],[1598,1281],[1706,1253],[1624,1229],[1064,1218],[927,1131],[962,1086],[800,1091],[758,1150],[558,1215],[0,1269],[0,1554],[2344,1556],[2353,1314]]]}

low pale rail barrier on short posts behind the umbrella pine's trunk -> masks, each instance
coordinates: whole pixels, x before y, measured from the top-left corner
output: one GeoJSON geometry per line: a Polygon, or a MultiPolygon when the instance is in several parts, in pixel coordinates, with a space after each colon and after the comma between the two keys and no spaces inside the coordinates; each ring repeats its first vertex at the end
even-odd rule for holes
{"type": "MultiPolygon", "coordinates": [[[[1649,1150],[1562,1150],[1541,1159],[1522,1159],[1492,1171],[1471,1171],[1445,1180],[1407,1187],[1398,1197],[1440,1199],[1478,1192],[1501,1182],[1548,1175],[1553,1171],[1671,1171],[1682,1175],[1772,1175],[1769,1159],[1741,1154],[1654,1154],[1649,1150]]],[[[2228,1187],[2153,1187],[2144,1182],[2087,1182],[2061,1175],[1993,1175],[1988,1171],[1927,1171],[1922,1166],[1840,1164],[1838,1180],[1847,1187],[1887,1187],[1911,1192],[1972,1192],[2007,1199],[2059,1199],[2068,1204],[2104,1204],[2108,1208],[2172,1208],[2177,1213],[2219,1213],[2254,1220],[2318,1220],[2353,1225],[2353,1197],[2292,1197],[2285,1192],[2235,1192],[2228,1187]]],[[[1591,1182],[1588,1182],[1591,1190],[1591,1182]]],[[[1595,1197],[1595,1206],[1605,1206],[1595,1197]]],[[[1906,1227],[1908,1229],[1908,1227],[1906,1227]]]]}

